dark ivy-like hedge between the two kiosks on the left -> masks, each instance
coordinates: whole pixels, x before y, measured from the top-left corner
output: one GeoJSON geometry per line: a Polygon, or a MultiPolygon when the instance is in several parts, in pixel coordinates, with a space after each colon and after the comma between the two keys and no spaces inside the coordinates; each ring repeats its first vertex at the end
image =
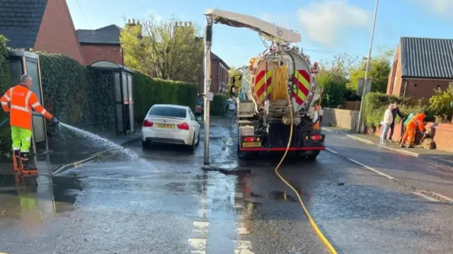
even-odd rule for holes
{"type": "MultiPolygon", "coordinates": [[[[86,125],[89,113],[96,111],[88,108],[90,100],[93,100],[88,96],[88,88],[93,84],[90,71],[62,54],[37,53],[40,57],[45,108],[64,123],[86,125]]],[[[54,126],[47,127],[52,134],[54,126]]]]}

